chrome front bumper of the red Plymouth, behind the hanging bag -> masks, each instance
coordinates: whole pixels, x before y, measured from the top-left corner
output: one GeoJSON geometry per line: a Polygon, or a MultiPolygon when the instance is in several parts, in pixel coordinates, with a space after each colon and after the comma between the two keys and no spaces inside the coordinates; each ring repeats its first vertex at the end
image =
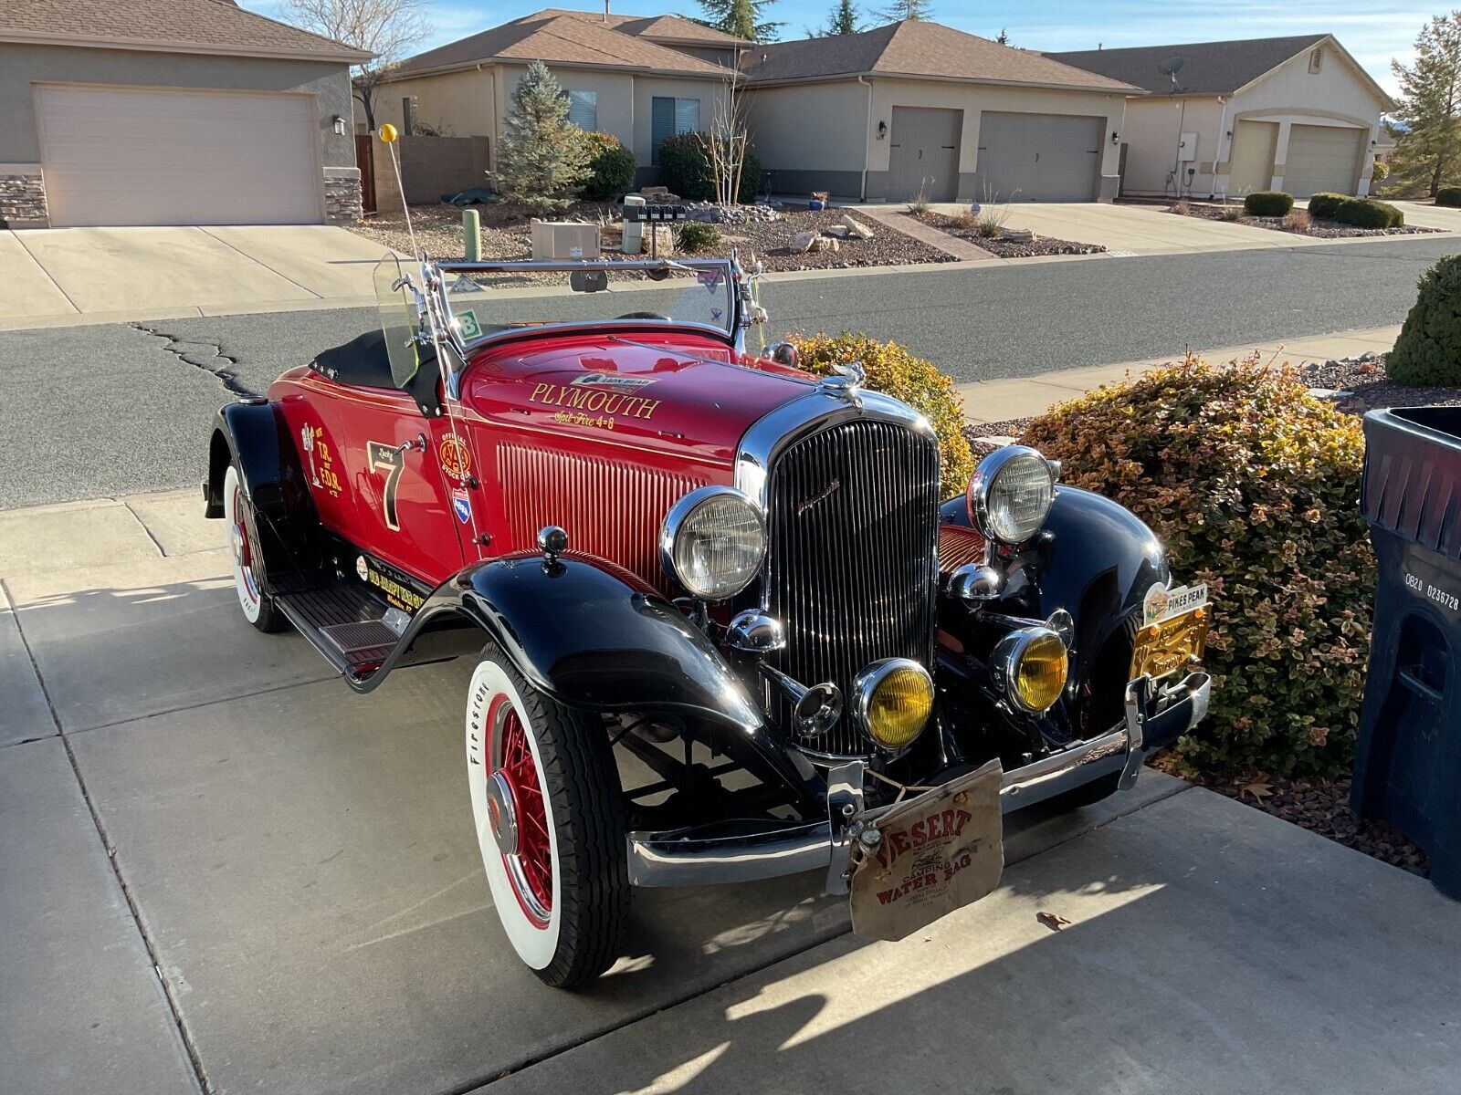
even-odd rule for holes
{"type": "MultiPolygon", "coordinates": [[[[1163,689],[1160,698],[1167,702],[1160,714],[1151,714],[1150,692],[1147,677],[1132,680],[1126,685],[1122,726],[1005,772],[999,790],[1004,813],[1023,810],[1109,772],[1121,772],[1121,785],[1129,787],[1151,750],[1169,745],[1202,720],[1211,679],[1207,673],[1191,673],[1163,689]]],[[[630,883],[700,886],[824,870],[827,892],[844,892],[846,885],[839,882],[849,844],[846,829],[853,821],[875,821],[882,810],[862,810],[862,764],[856,761],[828,774],[827,797],[827,821],[730,837],[697,837],[697,829],[631,832],[627,841],[630,883]]]]}

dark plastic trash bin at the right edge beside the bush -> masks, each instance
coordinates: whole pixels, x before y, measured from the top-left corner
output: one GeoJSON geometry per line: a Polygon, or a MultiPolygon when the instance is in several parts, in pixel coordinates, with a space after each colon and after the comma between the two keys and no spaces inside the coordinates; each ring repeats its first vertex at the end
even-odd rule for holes
{"type": "Polygon", "coordinates": [[[1350,806],[1461,898],[1461,407],[1366,415],[1360,508],[1379,590],[1350,806]]]}

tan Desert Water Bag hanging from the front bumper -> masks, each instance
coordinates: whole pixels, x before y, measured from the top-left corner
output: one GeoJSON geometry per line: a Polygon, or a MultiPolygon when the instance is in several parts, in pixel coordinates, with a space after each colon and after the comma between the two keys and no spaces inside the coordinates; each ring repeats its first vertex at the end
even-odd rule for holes
{"type": "Polygon", "coordinates": [[[999,885],[1001,783],[991,761],[878,818],[882,840],[858,860],[847,894],[856,934],[903,939],[999,885]]]}

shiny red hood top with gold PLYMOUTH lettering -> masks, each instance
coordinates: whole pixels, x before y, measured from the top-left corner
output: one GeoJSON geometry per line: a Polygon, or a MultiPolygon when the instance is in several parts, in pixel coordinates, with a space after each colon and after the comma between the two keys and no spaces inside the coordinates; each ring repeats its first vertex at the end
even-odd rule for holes
{"type": "Polygon", "coordinates": [[[542,336],[488,346],[469,366],[463,402],[504,425],[584,441],[612,438],[729,463],[747,428],[805,396],[812,378],[684,331],[542,336]]]}

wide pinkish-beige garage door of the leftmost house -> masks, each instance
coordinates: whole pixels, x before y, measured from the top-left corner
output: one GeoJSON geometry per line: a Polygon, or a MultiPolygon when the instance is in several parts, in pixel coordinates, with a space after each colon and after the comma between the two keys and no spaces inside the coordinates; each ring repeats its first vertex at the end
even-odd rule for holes
{"type": "Polygon", "coordinates": [[[51,225],[318,223],[304,95],[35,88],[51,225]]]}

